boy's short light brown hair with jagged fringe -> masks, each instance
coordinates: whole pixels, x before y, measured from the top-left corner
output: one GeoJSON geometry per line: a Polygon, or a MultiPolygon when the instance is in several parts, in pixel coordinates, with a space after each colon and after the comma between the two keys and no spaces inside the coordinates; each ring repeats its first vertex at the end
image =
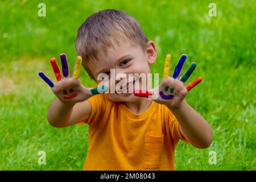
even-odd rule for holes
{"type": "MultiPolygon", "coordinates": [[[[97,60],[98,52],[108,51],[114,44],[119,45],[124,40],[132,45],[146,48],[148,38],[133,16],[120,10],[102,10],[90,15],[79,27],[76,38],[77,55],[82,57],[82,65],[93,78],[86,63],[97,60]]],[[[94,78],[93,78],[94,79],[94,78]]]]}

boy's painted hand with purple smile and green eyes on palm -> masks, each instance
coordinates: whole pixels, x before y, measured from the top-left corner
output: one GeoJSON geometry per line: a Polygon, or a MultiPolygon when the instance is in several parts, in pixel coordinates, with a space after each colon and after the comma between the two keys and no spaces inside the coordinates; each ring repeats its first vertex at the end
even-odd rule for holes
{"type": "Polygon", "coordinates": [[[179,75],[186,58],[187,56],[185,55],[182,55],[180,57],[179,63],[177,63],[176,65],[174,75],[170,77],[171,55],[167,55],[166,61],[164,63],[163,79],[158,88],[152,91],[135,90],[134,95],[138,97],[150,97],[154,95],[153,100],[155,102],[158,102],[159,104],[164,104],[171,108],[178,107],[187,96],[188,91],[202,81],[202,78],[198,77],[187,86],[184,86],[185,81],[187,81],[188,77],[196,68],[196,63],[192,63],[188,70],[184,73],[183,77],[181,77],[181,79],[179,80],[179,75]],[[158,93],[155,93],[156,90],[158,93]],[[155,94],[157,96],[155,96],[155,94]]]}

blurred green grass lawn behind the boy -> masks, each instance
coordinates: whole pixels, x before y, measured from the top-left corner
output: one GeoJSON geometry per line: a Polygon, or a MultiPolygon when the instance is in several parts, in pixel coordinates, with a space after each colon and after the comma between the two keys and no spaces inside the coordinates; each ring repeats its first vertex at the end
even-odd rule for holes
{"type": "MultiPolygon", "coordinates": [[[[0,5],[0,170],[81,170],[88,146],[88,126],[51,127],[47,108],[55,96],[38,77],[54,77],[50,57],[76,57],[77,28],[92,13],[120,9],[133,15],[158,47],[151,67],[161,73],[166,53],[172,68],[179,56],[185,67],[196,61],[204,81],[186,98],[212,126],[205,150],[180,142],[177,170],[255,170],[255,9],[251,1],[214,1],[217,17],[208,16],[212,1],[2,1],[0,5]],[[46,151],[46,165],[38,152],[46,151]],[[209,151],[217,152],[210,165],[209,151]]],[[[94,83],[82,71],[85,86],[94,83]]]]}

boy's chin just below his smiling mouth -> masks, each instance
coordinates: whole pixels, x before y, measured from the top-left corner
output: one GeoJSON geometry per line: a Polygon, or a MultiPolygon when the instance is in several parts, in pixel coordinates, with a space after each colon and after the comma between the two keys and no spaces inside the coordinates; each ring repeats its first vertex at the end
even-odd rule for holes
{"type": "Polygon", "coordinates": [[[106,93],[106,97],[113,102],[135,102],[139,97],[134,96],[133,93],[106,93]]]}

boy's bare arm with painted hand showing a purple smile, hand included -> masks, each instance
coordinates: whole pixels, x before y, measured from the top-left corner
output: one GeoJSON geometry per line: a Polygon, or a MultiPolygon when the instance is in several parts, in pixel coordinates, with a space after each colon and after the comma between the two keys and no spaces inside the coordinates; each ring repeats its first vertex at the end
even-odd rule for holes
{"type": "Polygon", "coordinates": [[[196,68],[196,63],[192,63],[184,75],[179,80],[179,75],[187,56],[182,55],[176,65],[174,75],[170,77],[171,55],[166,56],[164,63],[163,79],[158,88],[150,90],[136,90],[134,95],[139,97],[149,97],[159,104],[164,104],[175,115],[180,124],[180,133],[195,147],[207,148],[212,142],[212,129],[207,121],[191,106],[185,102],[189,90],[202,81],[202,78],[184,86],[184,82],[196,68]],[[143,92],[144,91],[144,92],[143,92]]]}

